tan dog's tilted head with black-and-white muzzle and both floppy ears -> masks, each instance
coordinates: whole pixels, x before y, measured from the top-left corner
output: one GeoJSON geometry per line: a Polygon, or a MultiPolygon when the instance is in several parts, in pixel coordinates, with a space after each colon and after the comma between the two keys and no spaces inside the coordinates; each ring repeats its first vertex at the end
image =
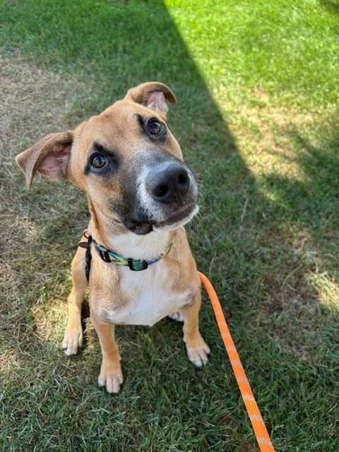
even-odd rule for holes
{"type": "Polygon", "coordinates": [[[176,102],[167,86],[143,83],[74,131],[45,136],[16,157],[28,188],[37,171],[72,182],[92,213],[136,234],[188,222],[198,189],[167,127],[166,101],[176,102]]]}

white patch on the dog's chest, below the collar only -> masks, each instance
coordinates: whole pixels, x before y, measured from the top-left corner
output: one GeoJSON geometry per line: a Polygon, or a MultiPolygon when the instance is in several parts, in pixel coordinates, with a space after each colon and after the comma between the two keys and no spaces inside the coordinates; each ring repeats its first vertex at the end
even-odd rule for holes
{"type": "Polygon", "coordinates": [[[119,292],[124,303],[105,313],[108,321],[152,326],[187,304],[189,291],[174,292],[168,284],[166,266],[160,262],[153,265],[141,272],[123,269],[119,292]]]}

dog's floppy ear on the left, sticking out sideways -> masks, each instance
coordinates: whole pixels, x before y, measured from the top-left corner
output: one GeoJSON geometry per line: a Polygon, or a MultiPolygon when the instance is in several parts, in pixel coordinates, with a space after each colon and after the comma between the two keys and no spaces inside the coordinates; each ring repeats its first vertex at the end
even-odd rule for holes
{"type": "Polygon", "coordinates": [[[16,156],[16,162],[25,173],[28,189],[37,171],[52,181],[65,179],[72,143],[72,131],[49,133],[32,148],[16,156]]]}

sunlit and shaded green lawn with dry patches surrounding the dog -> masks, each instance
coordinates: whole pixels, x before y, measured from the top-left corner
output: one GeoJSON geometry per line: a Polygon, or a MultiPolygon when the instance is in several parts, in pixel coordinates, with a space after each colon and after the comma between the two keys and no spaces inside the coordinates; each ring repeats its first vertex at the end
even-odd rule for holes
{"type": "Polygon", "coordinates": [[[117,397],[97,388],[86,313],[83,350],[61,351],[85,198],[42,178],[26,191],[13,157],[152,79],[179,99],[169,124],[202,180],[191,246],[276,451],[338,450],[337,2],[6,0],[0,13],[2,450],[258,450],[207,299],[204,369],[166,320],[118,329],[117,397]]]}

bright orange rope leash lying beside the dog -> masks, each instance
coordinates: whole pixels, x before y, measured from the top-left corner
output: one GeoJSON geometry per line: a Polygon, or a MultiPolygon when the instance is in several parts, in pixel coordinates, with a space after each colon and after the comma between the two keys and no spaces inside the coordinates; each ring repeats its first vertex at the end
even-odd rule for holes
{"type": "Polygon", "coordinates": [[[249,386],[249,381],[247,380],[244,367],[242,367],[242,362],[240,361],[230,330],[228,329],[218,295],[216,294],[213,285],[210,283],[210,280],[208,280],[208,278],[206,278],[206,276],[200,271],[198,271],[198,275],[206,288],[208,296],[210,297],[215,319],[217,320],[227,355],[230,358],[232,369],[237,379],[249,419],[251,420],[254,433],[256,434],[256,440],[258,441],[259,448],[261,452],[275,452],[272,441],[270,441],[270,435],[268,434],[266,425],[263,422],[258,405],[256,404],[256,399],[251,391],[251,386],[249,386]]]}

